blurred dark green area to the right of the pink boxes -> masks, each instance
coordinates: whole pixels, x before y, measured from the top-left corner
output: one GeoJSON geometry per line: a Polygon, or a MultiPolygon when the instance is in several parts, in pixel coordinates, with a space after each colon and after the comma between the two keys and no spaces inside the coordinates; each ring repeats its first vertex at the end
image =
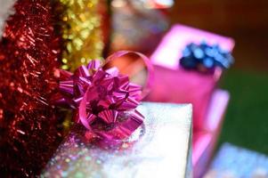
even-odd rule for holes
{"type": "Polygon", "coordinates": [[[231,93],[219,146],[231,142],[268,155],[268,74],[229,70],[221,88],[231,93]]]}

